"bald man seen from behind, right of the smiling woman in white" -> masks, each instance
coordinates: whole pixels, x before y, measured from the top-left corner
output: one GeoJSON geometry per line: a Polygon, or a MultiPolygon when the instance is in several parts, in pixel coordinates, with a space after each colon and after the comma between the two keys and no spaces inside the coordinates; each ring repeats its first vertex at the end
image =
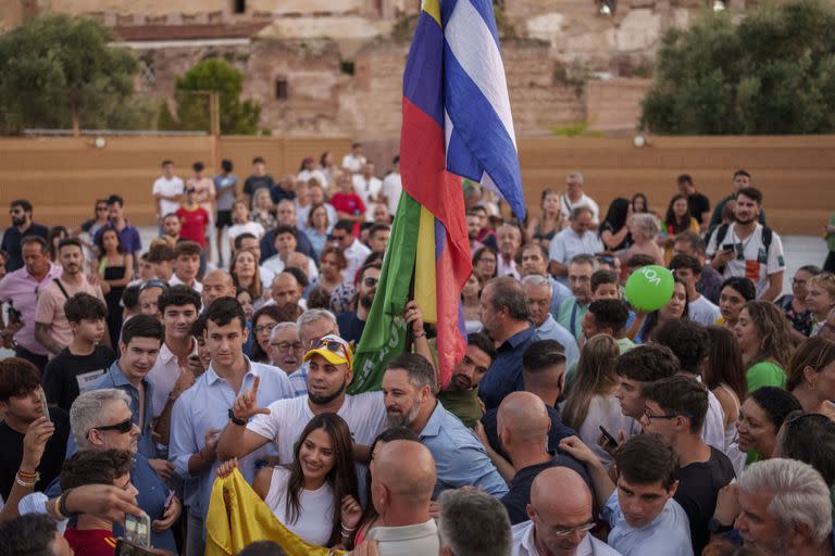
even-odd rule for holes
{"type": "Polygon", "coordinates": [[[371,501],[379,520],[367,539],[379,542],[381,556],[438,554],[438,530],[429,517],[432,454],[411,440],[387,442],[377,450],[371,460],[371,501]]]}

